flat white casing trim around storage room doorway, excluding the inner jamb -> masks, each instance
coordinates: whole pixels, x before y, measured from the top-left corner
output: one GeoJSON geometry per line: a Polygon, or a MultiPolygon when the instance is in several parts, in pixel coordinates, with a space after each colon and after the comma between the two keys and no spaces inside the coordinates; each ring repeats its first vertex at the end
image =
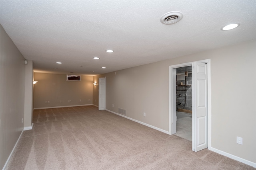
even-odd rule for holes
{"type": "Polygon", "coordinates": [[[208,150],[211,150],[211,137],[212,137],[212,112],[211,112],[211,59],[192,61],[190,63],[176,64],[169,66],[169,132],[168,134],[172,135],[172,68],[179,68],[185,66],[191,66],[193,62],[207,63],[207,104],[208,104],[208,150]]]}

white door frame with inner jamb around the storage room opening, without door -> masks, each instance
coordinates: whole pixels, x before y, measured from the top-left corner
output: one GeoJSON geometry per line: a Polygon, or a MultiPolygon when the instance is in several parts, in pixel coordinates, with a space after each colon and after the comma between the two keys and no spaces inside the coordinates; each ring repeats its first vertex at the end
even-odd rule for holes
{"type": "MultiPolygon", "coordinates": [[[[207,133],[208,133],[208,149],[211,150],[211,60],[200,60],[200,61],[193,61],[198,63],[206,63],[207,64],[207,133]]],[[[175,74],[176,76],[176,68],[179,67],[185,67],[185,66],[192,66],[193,62],[189,63],[182,63],[182,64],[176,64],[169,66],[169,134],[173,135],[176,133],[176,92],[174,92],[174,89],[176,89],[176,77],[173,76],[175,74]],[[175,86],[175,87],[174,87],[175,86]],[[175,104],[174,104],[175,102],[175,104]],[[174,108],[175,107],[175,113],[174,108]]],[[[194,84],[192,84],[193,86],[194,84]]]]}

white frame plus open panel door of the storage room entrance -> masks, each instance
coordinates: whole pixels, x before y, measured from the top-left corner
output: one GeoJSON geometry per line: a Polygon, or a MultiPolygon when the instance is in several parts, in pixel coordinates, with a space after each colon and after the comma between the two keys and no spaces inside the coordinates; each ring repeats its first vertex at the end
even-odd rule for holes
{"type": "Polygon", "coordinates": [[[169,133],[170,135],[176,133],[176,69],[191,65],[192,77],[194,77],[192,78],[192,87],[195,87],[192,89],[192,150],[197,152],[207,147],[211,150],[210,59],[169,67],[169,133]],[[201,74],[205,74],[205,80],[200,77],[201,74]],[[206,115],[201,115],[201,109],[204,109],[206,115]]]}

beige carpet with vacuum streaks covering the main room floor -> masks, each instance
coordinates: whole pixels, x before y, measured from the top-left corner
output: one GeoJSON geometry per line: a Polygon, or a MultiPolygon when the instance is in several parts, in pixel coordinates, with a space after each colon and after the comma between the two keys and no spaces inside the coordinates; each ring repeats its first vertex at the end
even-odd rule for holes
{"type": "Polygon", "coordinates": [[[250,170],[94,106],[34,110],[7,170],[250,170]]]}

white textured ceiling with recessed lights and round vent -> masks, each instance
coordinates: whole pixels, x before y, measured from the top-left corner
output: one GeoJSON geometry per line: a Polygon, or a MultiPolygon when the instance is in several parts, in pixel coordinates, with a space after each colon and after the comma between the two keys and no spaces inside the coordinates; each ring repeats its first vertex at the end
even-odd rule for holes
{"type": "Polygon", "coordinates": [[[0,6],[1,25],[35,72],[96,75],[256,39],[255,0],[1,0],[0,6]],[[182,20],[162,24],[171,11],[182,20]],[[220,30],[229,23],[240,26],[220,30]]]}

